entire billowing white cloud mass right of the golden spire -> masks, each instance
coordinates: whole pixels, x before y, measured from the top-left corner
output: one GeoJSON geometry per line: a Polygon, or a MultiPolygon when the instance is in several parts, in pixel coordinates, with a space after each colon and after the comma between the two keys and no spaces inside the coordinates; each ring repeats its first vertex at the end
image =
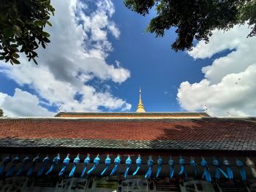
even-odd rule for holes
{"type": "Polygon", "coordinates": [[[209,43],[198,42],[189,55],[211,58],[223,50],[231,53],[216,58],[203,67],[205,77],[200,82],[182,82],[177,99],[184,110],[203,110],[210,115],[256,115],[256,38],[246,38],[247,26],[235,26],[230,31],[214,31],[209,43]]]}

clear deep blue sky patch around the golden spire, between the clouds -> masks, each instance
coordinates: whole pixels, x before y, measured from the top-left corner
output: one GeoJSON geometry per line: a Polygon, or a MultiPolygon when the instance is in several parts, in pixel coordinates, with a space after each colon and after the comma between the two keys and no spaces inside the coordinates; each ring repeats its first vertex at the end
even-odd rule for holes
{"type": "Polygon", "coordinates": [[[181,82],[197,82],[203,78],[202,66],[209,64],[208,59],[195,61],[186,52],[176,53],[170,49],[176,39],[175,30],[167,31],[165,37],[156,38],[145,31],[154,10],[142,17],[124,7],[122,1],[114,1],[116,6],[113,20],[120,28],[120,39],[113,39],[114,51],[107,59],[116,60],[130,70],[131,77],[114,95],[127,99],[136,110],[138,87],[143,91],[143,102],[148,111],[180,111],[176,100],[181,82]]]}

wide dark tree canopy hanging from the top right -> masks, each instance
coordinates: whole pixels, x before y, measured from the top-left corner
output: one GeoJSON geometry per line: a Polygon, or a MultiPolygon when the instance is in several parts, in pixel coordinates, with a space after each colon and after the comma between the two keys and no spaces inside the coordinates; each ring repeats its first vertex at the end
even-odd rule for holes
{"type": "Polygon", "coordinates": [[[163,37],[174,27],[178,37],[173,50],[191,50],[194,39],[205,40],[214,29],[228,30],[248,21],[256,35],[255,0],[124,0],[126,7],[145,16],[155,7],[157,16],[152,18],[146,31],[163,37]]]}

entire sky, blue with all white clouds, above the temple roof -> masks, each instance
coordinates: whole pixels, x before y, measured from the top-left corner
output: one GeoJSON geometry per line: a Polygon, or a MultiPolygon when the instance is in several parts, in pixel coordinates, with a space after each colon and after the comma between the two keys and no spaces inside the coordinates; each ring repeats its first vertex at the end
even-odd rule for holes
{"type": "Polygon", "coordinates": [[[217,117],[256,115],[256,38],[250,28],[215,30],[189,52],[171,50],[175,29],[156,38],[123,1],[53,0],[50,44],[38,65],[0,61],[4,115],[135,112],[141,88],[147,112],[204,111],[217,117]]]}

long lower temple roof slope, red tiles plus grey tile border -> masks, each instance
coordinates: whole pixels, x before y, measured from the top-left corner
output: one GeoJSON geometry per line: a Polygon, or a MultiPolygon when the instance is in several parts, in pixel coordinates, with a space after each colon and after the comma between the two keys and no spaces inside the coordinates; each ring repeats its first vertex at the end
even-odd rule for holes
{"type": "Polygon", "coordinates": [[[1,148],[256,151],[255,141],[256,118],[0,119],[1,148]]]}

